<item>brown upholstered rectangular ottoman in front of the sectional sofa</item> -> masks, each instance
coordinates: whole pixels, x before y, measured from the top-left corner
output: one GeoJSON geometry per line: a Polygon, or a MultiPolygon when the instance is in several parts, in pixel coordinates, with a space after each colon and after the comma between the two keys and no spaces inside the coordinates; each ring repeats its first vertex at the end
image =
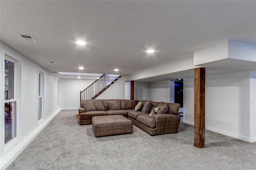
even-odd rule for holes
{"type": "Polygon", "coordinates": [[[94,116],[92,129],[96,137],[132,133],[132,121],[122,115],[94,116]]]}

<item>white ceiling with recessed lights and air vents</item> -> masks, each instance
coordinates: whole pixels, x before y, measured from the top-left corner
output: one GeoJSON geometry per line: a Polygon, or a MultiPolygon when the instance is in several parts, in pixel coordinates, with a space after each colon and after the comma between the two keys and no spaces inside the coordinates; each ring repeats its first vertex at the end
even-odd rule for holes
{"type": "Polygon", "coordinates": [[[255,9],[256,1],[1,0],[0,38],[50,71],[132,74],[224,40],[256,44],[255,9]]]}

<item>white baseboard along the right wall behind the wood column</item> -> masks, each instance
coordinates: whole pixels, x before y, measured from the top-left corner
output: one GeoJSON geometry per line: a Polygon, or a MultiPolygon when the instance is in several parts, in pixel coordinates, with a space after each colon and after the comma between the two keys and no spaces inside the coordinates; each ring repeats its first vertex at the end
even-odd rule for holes
{"type": "MultiPolygon", "coordinates": [[[[194,122],[186,121],[184,119],[183,119],[183,122],[194,126],[194,122]]],[[[234,134],[234,133],[231,133],[231,132],[227,132],[227,131],[224,131],[224,130],[219,130],[219,129],[208,127],[208,126],[205,126],[205,129],[213,131],[213,132],[217,132],[217,133],[220,133],[220,134],[224,134],[224,135],[227,135],[227,136],[231,136],[233,138],[241,139],[241,140],[244,140],[244,141],[247,141],[247,142],[256,142],[256,137],[248,138],[246,136],[242,136],[242,135],[239,135],[239,134],[234,134]]]]}

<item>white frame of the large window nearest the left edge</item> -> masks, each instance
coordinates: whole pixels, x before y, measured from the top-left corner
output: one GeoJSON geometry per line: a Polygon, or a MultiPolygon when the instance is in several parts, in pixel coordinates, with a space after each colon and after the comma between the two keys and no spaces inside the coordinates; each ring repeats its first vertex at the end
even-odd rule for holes
{"type": "Polygon", "coordinates": [[[12,146],[14,146],[17,142],[19,142],[20,138],[21,138],[21,96],[22,96],[22,60],[18,57],[16,57],[15,55],[13,55],[12,53],[9,53],[8,51],[2,50],[2,75],[0,75],[0,77],[2,77],[2,88],[1,93],[4,92],[4,60],[8,60],[11,61],[12,63],[14,63],[14,99],[10,99],[10,100],[5,100],[4,99],[4,95],[2,95],[1,97],[1,113],[4,112],[4,103],[8,103],[8,102],[13,102],[16,101],[16,137],[14,137],[12,140],[10,140],[8,143],[4,144],[4,114],[1,114],[1,154],[3,152],[6,152],[7,150],[9,150],[10,148],[12,148],[12,146]]]}

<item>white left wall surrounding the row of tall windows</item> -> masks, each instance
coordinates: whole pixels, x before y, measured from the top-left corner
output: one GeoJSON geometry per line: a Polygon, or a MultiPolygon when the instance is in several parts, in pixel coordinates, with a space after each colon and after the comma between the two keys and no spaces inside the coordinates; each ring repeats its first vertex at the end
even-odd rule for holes
{"type": "MultiPolygon", "coordinates": [[[[53,73],[44,69],[40,65],[31,61],[12,47],[6,45],[5,43],[0,43],[0,65],[1,65],[1,92],[3,91],[3,51],[7,51],[12,56],[18,57],[22,60],[22,86],[18,87],[21,89],[21,101],[18,103],[20,105],[20,110],[18,112],[19,119],[18,124],[18,137],[17,142],[5,151],[6,146],[4,146],[4,114],[1,114],[1,152],[0,152],[0,168],[6,168],[12,160],[18,156],[20,152],[34,139],[34,137],[53,119],[53,117],[58,114],[60,109],[58,109],[57,103],[57,80],[53,73]],[[44,72],[44,120],[38,123],[38,69],[44,72]]],[[[4,95],[1,93],[1,113],[4,110],[4,95]]]]}

